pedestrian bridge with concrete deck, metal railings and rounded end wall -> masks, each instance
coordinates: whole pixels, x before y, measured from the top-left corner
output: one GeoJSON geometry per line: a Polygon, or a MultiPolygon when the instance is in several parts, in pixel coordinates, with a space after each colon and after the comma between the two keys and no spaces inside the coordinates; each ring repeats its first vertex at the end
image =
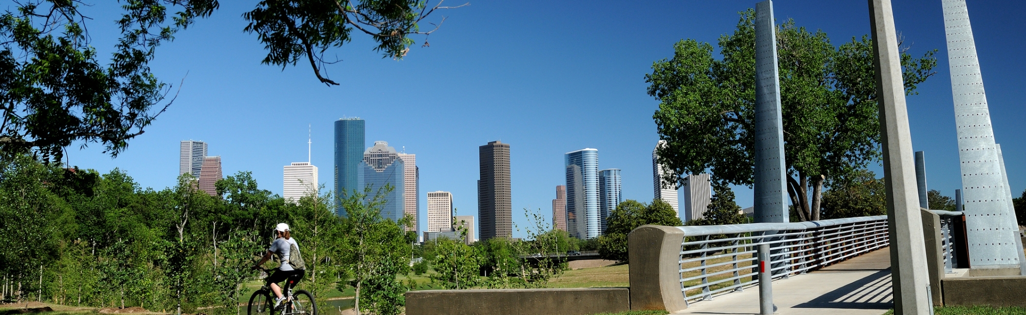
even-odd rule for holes
{"type": "MultiPolygon", "coordinates": [[[[961,213],[923,211],[937,237],[932,273],[956,267],[961,213]],[[935,233],[936,231],[936,233],[935,233]],[[939,269],[939,270],[935,270],[939,269]]],[[[930,238],[930,237],[928,237],[930,238]]],[[[780,314],[882,314],[893,308],[885,216],[797,223],[642,226],[628,239],[631,308],[681,314],[759,313],[758,244],[768,244],[780,314]],[[637,251],[637,250],[640,251],[637,251]],[[659,292],[658,295],[653,292],[659,292]]],[[[929,240],[928,240],[929,242],[929,240]]],[[[929,248],[929,245],[928,245],[929,248]]],[[[929,255],[928,255],[929,256],[929,255]]],[[[938,283],[939,284],[939,283],[938,283]]],[[[939,286],[939,285],[937,285],[939,286]]]]}

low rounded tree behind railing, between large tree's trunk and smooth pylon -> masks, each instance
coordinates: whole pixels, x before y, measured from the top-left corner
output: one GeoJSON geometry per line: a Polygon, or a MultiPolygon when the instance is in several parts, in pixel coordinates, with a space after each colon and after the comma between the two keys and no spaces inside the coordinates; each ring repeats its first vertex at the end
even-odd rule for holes
{"type": "Polygon", "coordinates": [[[882,178],[861,170],[830,184],[823,194],[823,218],[840,219],[886,215],[886,187],[882,178]]]}

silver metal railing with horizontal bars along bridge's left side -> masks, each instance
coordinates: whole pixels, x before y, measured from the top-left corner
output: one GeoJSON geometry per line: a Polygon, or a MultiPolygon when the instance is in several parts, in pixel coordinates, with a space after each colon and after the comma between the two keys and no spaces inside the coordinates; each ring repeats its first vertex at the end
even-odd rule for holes
{"type": "MultiPolygon", "coordinates": [[[[805,273],[890,244],[886,216],[796,223],[680,226],[684,301],[755,285],[756,245],[768,243],[774,278],[805,273]]],[[[948,233],[950,234],[950,233],[948,233]]]]}

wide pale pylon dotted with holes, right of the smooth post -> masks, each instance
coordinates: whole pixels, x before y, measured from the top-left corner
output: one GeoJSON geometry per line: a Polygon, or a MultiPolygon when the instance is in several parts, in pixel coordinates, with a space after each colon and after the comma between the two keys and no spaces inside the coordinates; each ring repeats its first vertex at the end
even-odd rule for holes
{"type": "Polygon", "coordinates": [[[973,268],[1018,268],[1018,251],[1022,249],[1017,248],[1013,234],[1018,227],[1015,212],[1008,206],[969,10],[964,0],[942,0],[941,3],[955,106],[970,264],[973,268]]]}

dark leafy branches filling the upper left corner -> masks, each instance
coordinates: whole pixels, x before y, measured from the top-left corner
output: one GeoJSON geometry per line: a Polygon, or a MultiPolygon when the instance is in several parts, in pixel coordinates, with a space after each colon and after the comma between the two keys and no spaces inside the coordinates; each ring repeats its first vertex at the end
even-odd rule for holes
{"type": "Polygon", "coordinates": [[[10,158],[35,149],[43,160],[61,161],[74,141],[100,142],[116,156],[127,140],[143,134],[166,109],[158,103],[169,86],[149,68],[157,46],[196,17],[209,15],[218,3],[149,0],[122,5],[116,21],[121,37],[108,64],[90,45],[85,21],[91,18],[81,11],[87,4],[25,1],[13,7],[0,14],[0,152],[10,158]]]}

